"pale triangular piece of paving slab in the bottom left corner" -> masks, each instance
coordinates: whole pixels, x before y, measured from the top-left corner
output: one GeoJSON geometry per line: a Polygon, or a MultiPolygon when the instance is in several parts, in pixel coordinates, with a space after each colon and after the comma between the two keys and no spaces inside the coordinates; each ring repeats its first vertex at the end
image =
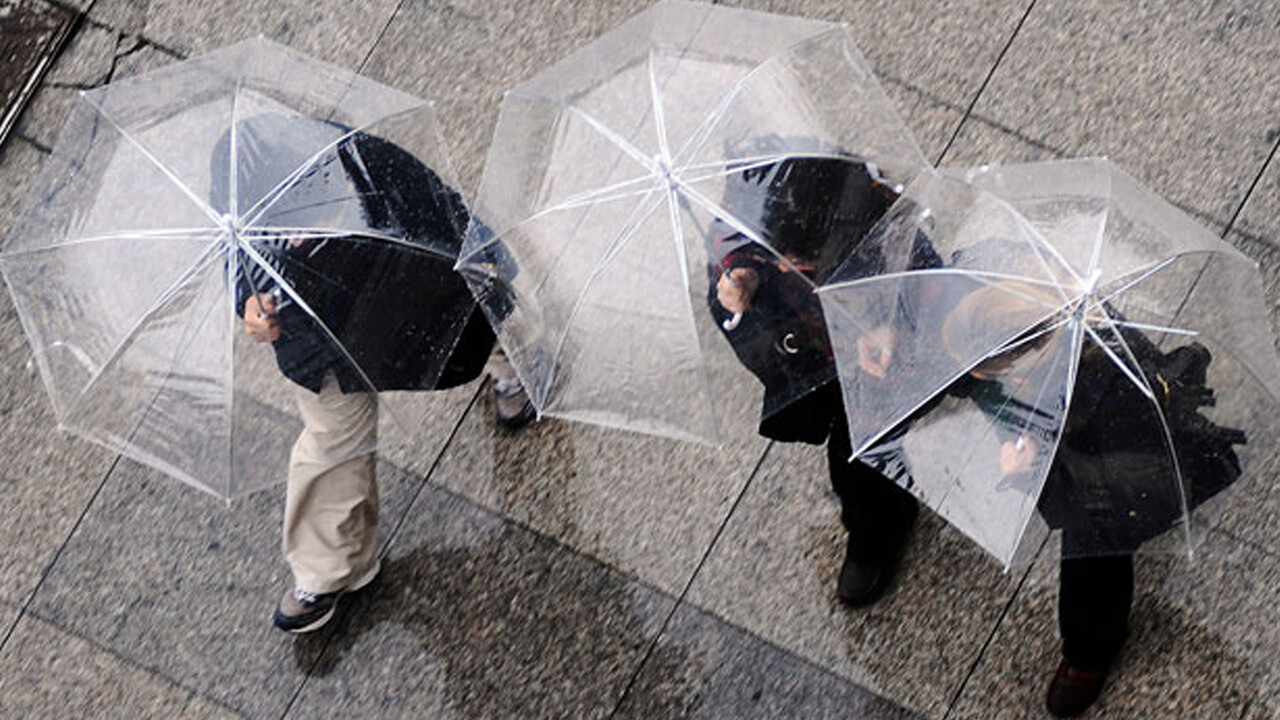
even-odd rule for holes
{"type": "Polygon", "coordinates": [[[230,710],[27,615],[0,652],[3,717],[230,720],[230,710]]]}

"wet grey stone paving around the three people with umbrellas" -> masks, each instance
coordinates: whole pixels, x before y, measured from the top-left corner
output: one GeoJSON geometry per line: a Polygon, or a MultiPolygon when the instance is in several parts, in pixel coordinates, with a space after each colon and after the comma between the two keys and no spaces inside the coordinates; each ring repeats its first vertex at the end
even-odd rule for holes
{"type": "MultiPolygon", "coordinates": [[[[0,234],[73,92],[264,33],[431,97],[467,190],[500,91],[646,0],[78,0],[0,149],[0,234]]],[[[741,0],[850,23],[931,159],[1105,154],[1257,259],[1280,301],[1280,3],[741,0]]],[[[1042,717],[1056,570],[924,518],[878,606],[833,598],[817,448],[703,451],[435,398],[384,465],[385,574],[317,637],[268,624],[280,501],[232,511],[51,433],[0,300],[0,717],[1042,717]]],[[[1260,498],[1280,515],[1280,492],[1260,498]]],[[[1272,523],[1272,527],[1276,524],[1272,523]]],[[[1211,543],[1215,542],[1211,539],[1211,543]]],[[[1280,717],[1280,538],[1143,561],[1093,717],[1280,717]]]]}

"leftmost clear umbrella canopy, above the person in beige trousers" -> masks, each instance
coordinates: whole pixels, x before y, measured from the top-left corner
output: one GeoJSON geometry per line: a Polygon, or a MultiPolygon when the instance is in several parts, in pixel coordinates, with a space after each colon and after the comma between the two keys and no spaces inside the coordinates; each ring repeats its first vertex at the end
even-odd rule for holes
{"type": "Polygon", "coordinates": [[[261,38],[81,94],[0,254],[59,424],[229,498],[284,478],[294,388],[431,387],[451,179],[428,102],[261,38]]]}

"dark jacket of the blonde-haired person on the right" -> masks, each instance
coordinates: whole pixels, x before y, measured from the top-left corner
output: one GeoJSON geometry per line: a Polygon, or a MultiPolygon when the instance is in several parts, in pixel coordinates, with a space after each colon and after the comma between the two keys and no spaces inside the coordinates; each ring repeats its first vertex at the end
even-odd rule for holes
{"type": "Polygon", "coordinates": [[[1002,441],[1025,433],[1039,447],[1052,447],[1061,424],[1037,509],[1051,528],[1064,530],[1070,555],[1130,553],[1240,475],[1233,446],[1245,442],[1244,433],[1199,413],[1213,397],[1204,384],[1208,350],[1193,342],[1164,352],[1135,329],[1120,329],[1120,336],[1124,346],[1114,337],[1108,345],[1119,357],[1133,352],[1156,391],[1164,423],[1151,400],[1096,345],[1080,352],[1065,420],[1010,397],[997,380],[965,377],[948,388],[978,404],[1002,441]],[[1175,486],[1179,474],[1185,498],[1175,486]]]}

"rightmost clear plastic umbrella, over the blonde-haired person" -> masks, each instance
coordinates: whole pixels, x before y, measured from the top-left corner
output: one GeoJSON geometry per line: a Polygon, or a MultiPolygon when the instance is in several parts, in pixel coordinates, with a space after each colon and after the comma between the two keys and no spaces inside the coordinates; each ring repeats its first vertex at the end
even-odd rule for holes
{"type": "Polygon", "coordinates": [[[1257,265],[1107,160],[924,176],[860,255],[819,291],[855,454],[1006,565],[1051,530],[1068,556],[1192,552],[1260,518],[1257,265]],[[911,266],[924,240],[942,266],[911,266]]]}

